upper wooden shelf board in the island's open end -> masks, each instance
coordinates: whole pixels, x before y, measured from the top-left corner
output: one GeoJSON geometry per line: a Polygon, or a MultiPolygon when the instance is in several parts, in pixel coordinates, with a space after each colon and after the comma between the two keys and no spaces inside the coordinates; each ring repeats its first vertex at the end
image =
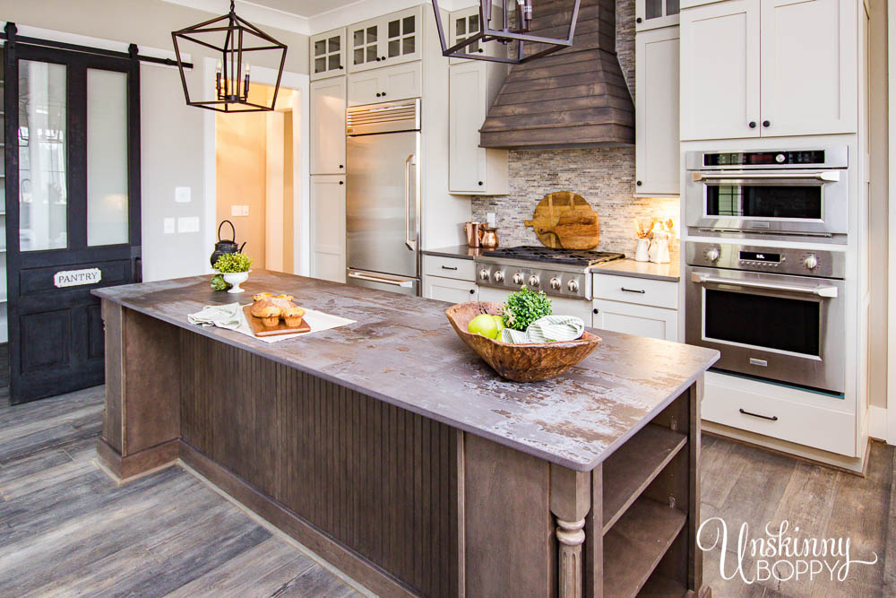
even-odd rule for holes
{"type": "Polygon", "coordinates": [[[607,533],[642,491],[678,454],[687,437],[649,424],[621,446],[604,464],[603,528],[607,533]]]}

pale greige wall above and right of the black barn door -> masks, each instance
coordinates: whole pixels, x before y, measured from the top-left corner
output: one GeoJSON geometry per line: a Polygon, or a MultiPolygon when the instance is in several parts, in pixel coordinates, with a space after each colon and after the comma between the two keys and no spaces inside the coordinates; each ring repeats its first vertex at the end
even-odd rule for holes
{"type": "MultiPolygon", "coordinates": [[[[220,3],[226,13],[228,3],[220,3]]],[[[213,15],[161,0],[0,0],[0,19],[46,30],[108,39],[138,46],[171,50],[171,31],[213,15]]],[[[289,71],[306,74],[308,39],[305,35],[263,27],[285,43],[289,71]]],[[[203,83],[202,57],[211,56],[191,46],[197,68],[188,73],[194,86],[203,83]]],[[[253,65],[268,65],[258,60],[253,65]]],[[[275,64],[270,66],[276,67],[275,64]]],[[[141,67],[141,175],[143,280],[159,280],[204,272],[213,247],[207,227],[203,142],[206,110],[185,104],[177,69],[144,64],[141,67]],[[191,188],[189,204],[174,201],[175,187],[191,188]],[[199,232],[163,233],[165,218],[196,217],[199,232]]],[[[212,119],[213,121],[213,119],[212,119]]],[[[213,151],[213,147],[211,148],[213,151]]],[[[213,158],[213,156],[212,156],[213,158]]],[[[213,207],[212,207],[213,210],[213,207]]],[[[213,212],[212,212],[213,213],[213,212]]]]}

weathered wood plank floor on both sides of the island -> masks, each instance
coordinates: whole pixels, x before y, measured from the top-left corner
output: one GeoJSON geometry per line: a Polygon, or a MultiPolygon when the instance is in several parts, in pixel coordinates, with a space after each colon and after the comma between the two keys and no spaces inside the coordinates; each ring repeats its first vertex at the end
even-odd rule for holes
{"type": "MultiPolygon", "coordinates": [[[[102,393],[16,407],[0,399],[0,596],[361,595],[179,467],[116,487],[92,463],[102,393]]],[[[720,576],[720,551],[710,550],[704,579],[713,595],[893,595],[893,470],[892,447],[880,444],[863,479],[704,437],[702,518],[728,525],[726,575],[735,571],[743,523],[754,538],[786,519],[800,527],[794,535],[849,537],[852,559],[879,558],[854,565],[844,582],[804,576],[748,585],[720,576]]],[[[754,577],[752,559],[744,566],[754,577]]]]}

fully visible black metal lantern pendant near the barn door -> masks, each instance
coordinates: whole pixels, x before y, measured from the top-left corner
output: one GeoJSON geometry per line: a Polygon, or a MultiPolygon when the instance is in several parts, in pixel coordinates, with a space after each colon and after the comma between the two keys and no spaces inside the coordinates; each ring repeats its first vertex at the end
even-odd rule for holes
{"type": "MultiPolygon", "coordinates": [[[[219,36],[220,37],[220,36],[219,36]]],[[[270,112],[277,105],[277,95],[280,92],[280,79],[283,77],[283,66],[286,64],[286,44],[273,39],[263,30],[258,29],[252,23],[237,16],[233,0],[230,2],[230,12],[206,22],[201,22],[192,27],[172,31],[171,39],[174,42],[174,53],[177,57],[177,69],[180,71],[180,81],[184,85],[184,96],[189,106],[215,110],[216,112],[270,112]],[[216,46],[208,41],[196,39],[202,34],[219,34],[226,31],[224,43],[216,46]],[[263,40],[259,46],[245,45],[250,36],[263,40]],[[211,48],[221,55],[221,73],[218,75],[217,100],[191,100],[190,89],[186,84],[184,73],[185,63],[180,56],[178,40],[198,44],[204,48],[211,48]],[[242,78],[244,53],[273,51],[280,52],[280,68],[277,72],[277,83],[274,85],[271,104],[258,104],[249,101],[249,76],[242,78]]]]}

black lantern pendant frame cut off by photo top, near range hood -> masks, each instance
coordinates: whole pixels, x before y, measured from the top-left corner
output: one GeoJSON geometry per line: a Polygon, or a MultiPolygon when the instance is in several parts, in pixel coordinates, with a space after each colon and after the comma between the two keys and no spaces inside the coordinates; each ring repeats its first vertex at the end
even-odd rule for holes
{"type": "MultiPolygon", "coordinates": [[[[503,62],[511,65],[519,65],[521,63],[526,63],[530,60],[540,58],[541,56],[547,56],[548,54],[551,54],[558,50],[572,47],[573,35],[575,34],[575,22],[578,21],[579,18],[579,4],[581,0],[575,0],[575,4],[573,5],[573,18],[570,20],[569,32],[566,36],[566,39],[544,38],[538,35],[530,35],[530,33],[527,32],[529,30],[529,21],[525,20],[527,18],[525,16],[522,17],[524,27],[522,27],[520,30],[513,30],[511,28],[510,15],[507,8],[508,4],[513,6],[514,4],[517,4],[517,2],[516,0],[500,0],[500,2],[502,3],[502,7],[504,9],[504,17],[502,19],[501,29],[491,28],[492,0],[479,0],[479,32],[467,39],[454,44],[451,48],[449,48],[448,42],[445,39],[445,31],[442,25],[442,15],[439,12],[439,3],[438,0],[433,0],[435,25],[436,27],[438,27],[439,41],[441,41],[442,43],[442,56],[448,56],[451,58],[468,58],[470,60],[487,60],[489,62],[503,62]],[[487,56],[487,54],[484,53],[470,54],[463,51],[464,48],[467,48],[470,45],[475,44],[476,42],[486,43],[493,40],[499,41],[504,44],[513,41],[518,42],[516,56],[487,56]],[[530,56],[524,56],[524,46],[527,41],[536,44],[548,44],[549,47],[531,54],[530,56]]],[[[531,8],[531,2],[532,0],[527,0],[527,2],[525,2],[524,4],[531,8]]],[[[530,20],[531,17],[529,16],[528,19],[530,20]]]]}

